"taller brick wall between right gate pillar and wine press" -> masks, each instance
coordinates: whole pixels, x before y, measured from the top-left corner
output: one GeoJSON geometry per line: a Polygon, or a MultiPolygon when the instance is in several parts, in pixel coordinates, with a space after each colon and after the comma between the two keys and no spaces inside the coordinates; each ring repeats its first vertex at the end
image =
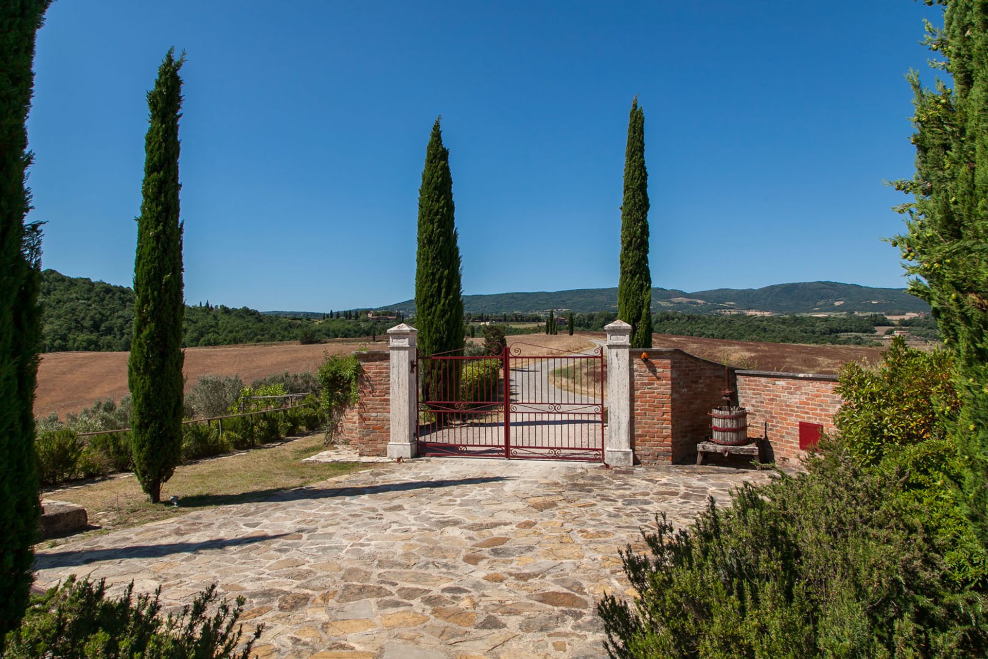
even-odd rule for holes
{"type": "Polygon", "coordinates": [[[642,464],[688,461],[733,375],[678,349],[631,351],[631,442],[642,464]],[[646,355],[641,359],[642,352],[646,355]]]}

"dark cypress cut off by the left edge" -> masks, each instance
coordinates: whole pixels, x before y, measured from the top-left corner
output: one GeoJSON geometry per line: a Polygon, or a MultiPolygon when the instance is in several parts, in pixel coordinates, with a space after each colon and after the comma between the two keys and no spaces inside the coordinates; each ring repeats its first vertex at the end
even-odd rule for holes
{"type": "Polygon", "coordinates": [[[28,603],[38,526],[35,384],[41,346],[41,231],[26,176],[35,37],[50,0],[0,9],[0,653],[28,603]]]}

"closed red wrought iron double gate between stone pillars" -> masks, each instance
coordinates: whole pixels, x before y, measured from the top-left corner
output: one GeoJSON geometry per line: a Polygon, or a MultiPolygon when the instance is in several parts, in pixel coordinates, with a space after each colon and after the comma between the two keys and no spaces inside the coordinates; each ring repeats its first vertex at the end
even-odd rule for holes
{"type": "Polygon", "coordinates": [[[552,350],[420,358],[419,454],[604,461],[603,350],[552,350]]]}

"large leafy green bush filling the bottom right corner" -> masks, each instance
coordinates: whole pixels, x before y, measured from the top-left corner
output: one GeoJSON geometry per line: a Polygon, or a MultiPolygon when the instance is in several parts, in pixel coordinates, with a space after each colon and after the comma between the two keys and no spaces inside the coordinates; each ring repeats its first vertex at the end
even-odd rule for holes
{"type": "Polygon", "coordinates": [[[598,611],[612,657],[983,657],[984,595],[952,578],[891,471],[822,443],[809,471],[746,484],[621,552],[640,599],[598,611]]]}

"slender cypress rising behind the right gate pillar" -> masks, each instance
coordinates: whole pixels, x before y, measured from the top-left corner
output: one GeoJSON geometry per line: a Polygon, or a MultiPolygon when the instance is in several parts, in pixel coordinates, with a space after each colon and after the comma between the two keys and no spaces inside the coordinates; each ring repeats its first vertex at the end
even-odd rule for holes
{"type": "Polygon", "coordinates": [[[631,345],[652,347],[652,273],[648,268],[648,172],[645,114],[631,102],[624,149],[624,196],[620,206],[620,280],[617,317],[631,326],[631,345]]]}

